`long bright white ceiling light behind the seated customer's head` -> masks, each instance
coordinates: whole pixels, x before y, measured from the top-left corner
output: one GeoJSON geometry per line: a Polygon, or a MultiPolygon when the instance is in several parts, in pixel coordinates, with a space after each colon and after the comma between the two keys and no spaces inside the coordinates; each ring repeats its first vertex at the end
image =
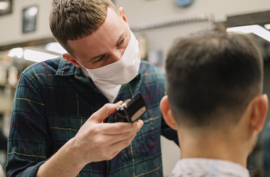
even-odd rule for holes
{"type": "Polygon", "coordinates": [[[227,32],[253,33],[270,42],[270,31],[258,24],[227,28],[227,32]]]}

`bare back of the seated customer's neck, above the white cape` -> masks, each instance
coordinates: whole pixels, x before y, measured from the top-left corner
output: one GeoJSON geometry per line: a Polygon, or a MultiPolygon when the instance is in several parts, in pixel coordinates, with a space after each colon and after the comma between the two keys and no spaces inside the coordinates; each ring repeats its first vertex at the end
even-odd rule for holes
{"type": "Polygon", "coordinates": [[[187,132],[185,134],[178,132],[181,159],[221,159],[246,167],[249,145],[231,135],[224,136],[224,134],[218,132],[209,132],[207,134],[199,133],[199,135],[197,133],[195,136],[194,134],[187,134],[187,132]]]}

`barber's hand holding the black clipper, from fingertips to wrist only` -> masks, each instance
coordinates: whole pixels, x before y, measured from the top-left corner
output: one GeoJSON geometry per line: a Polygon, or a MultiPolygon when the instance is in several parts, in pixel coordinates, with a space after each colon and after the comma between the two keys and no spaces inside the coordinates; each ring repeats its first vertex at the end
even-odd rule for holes
{"type": "Polygon", "coordinates": [[[89,117],[74,137],[78,157],[86,164],[112,159],[131,143],[143,126],[142,120],[134,123],[102,123],[121,103],[104,105],[89,117]]]}

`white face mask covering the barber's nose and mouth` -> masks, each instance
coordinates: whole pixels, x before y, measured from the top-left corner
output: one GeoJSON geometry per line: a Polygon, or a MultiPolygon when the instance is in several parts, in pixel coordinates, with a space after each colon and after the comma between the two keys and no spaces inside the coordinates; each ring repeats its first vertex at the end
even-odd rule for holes
{"type": "Polygon", "coordinates": [[[135,78],[140,67],[139,42],[131,32],[127,48],[117,62],[97,69],[87,69],[94,82],[108,85],[123,85],[135,78]]]}

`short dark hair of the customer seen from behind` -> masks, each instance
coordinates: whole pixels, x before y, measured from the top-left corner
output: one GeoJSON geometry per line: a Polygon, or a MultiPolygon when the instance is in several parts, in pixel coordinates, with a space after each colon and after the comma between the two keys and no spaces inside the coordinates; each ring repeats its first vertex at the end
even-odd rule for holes
{"type": "Polygon", "coordinates": [[[166,79],[178,123],[236,123],[262,92],[262,55],[249,36],[218,27],[178,39],[166,58],[166,79]]]}

